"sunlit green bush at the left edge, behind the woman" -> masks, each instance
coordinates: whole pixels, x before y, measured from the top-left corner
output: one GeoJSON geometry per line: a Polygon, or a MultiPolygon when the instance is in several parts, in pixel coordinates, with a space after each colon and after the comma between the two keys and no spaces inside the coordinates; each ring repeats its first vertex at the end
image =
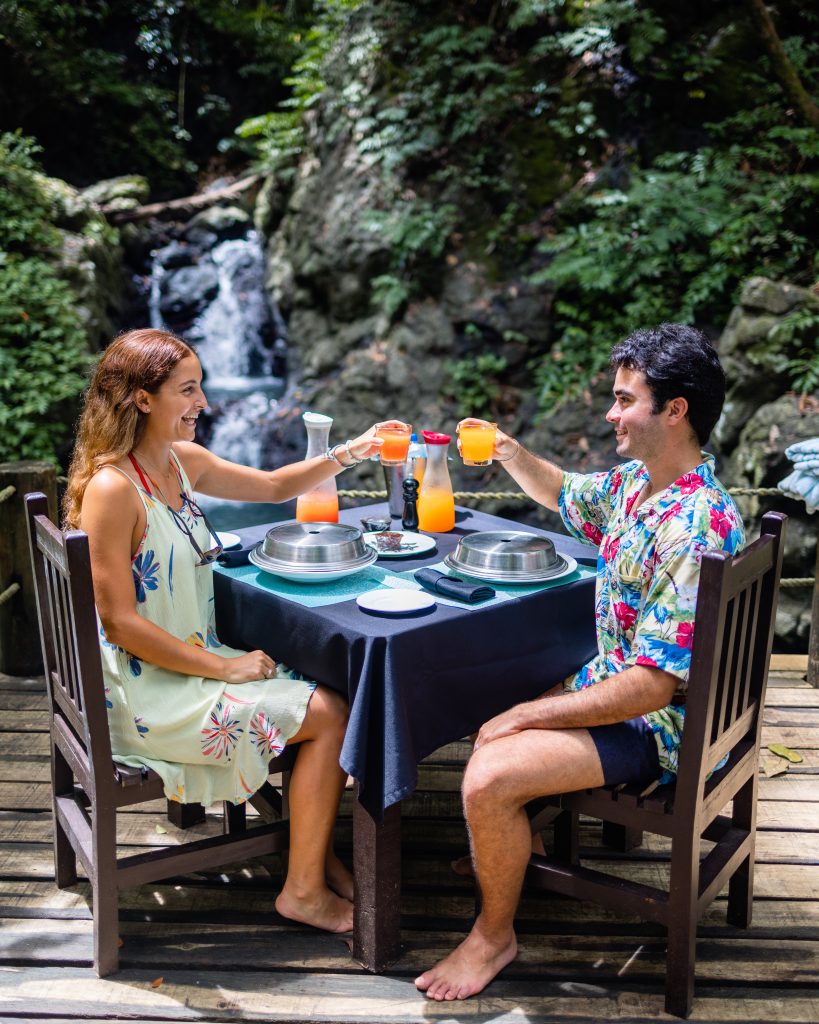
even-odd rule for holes
{"type": "Polygon", "coordinates": [[[35,161],[37,147],[0,136],[0,461],[56,462],[68,439],[66,413],[90,365],[74,297],[55,262],[35,161]]]}

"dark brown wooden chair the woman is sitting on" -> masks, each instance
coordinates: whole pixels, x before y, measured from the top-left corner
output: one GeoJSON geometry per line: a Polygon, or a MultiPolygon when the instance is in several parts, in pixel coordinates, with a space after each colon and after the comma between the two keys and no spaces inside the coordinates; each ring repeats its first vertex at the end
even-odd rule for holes
{"type": "Polygon", "coordinates": [[[286,850],[288,822],[245,828],[127,857],[117,856],[117,812],[164,795],[160,776],[112,757],[88,538],[48,518],[45,495],[26,496],[40,639],[49,699],[54,874],[91,884],[94,969],[119,969],[118,894],[130,886],[286,850]]]}

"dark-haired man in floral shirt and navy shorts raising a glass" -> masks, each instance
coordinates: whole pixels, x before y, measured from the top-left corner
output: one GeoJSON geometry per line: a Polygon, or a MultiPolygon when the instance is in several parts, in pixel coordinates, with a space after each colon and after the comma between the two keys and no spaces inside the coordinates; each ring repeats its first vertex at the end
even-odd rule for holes
{"type": "Polygon", "coordinates": [[[516,955],[514,916],[535,797],[673,778],[685,718],[699,562],[744,541],[704,444],[725,398],[707,339],[684,325],[614,347],[608,473],[564,473],[499,432],[494,455],[569,531],[600,546],[598,654],[562,686],[486,722],[464,776],[481,911],[448,956],[416,979],[433,999],[484,988],[516,955]]]}

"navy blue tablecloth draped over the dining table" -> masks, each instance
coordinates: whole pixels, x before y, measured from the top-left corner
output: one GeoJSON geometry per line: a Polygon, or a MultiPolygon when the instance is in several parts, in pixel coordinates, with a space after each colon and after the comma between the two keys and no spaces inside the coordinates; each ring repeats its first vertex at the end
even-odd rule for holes
{"type": "MultiPolygon", "coordinates": [[[[386,505],[346,509],[342,521],[386,505]]],[[[261,540],[268,526],[239,530],[261,540]]],[[[396,526],[400,528],[400,524],[396,526]]],[[[392,560],[399,571],[430,565],[475,530],[521,528],[459,509],[450,534],[433,535],[424,557],[392,560]]],[[[587,564],[596,549],[550,537],[557,550],[587,564]]],[[[386,561],[379,564],[386,565],[386,561]]],[[[348,697],[350,722],[341,753],[375,820],[418,783],[418,764],[437,748],[469,735],[499,712],[531,699],[578,669],[596,651],[594,579],[515,597],[488,607],[437,604],[422,614],[387,617],[354,601],[308,608],[214,573],[216,625],[232,646],[266,650],[348,697]]]]}

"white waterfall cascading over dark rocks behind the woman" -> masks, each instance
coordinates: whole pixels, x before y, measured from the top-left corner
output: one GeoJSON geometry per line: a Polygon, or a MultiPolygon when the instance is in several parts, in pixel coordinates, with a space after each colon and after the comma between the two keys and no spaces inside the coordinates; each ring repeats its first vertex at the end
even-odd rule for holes
{"type": "MultiPolygon", "coordinates": [[[[204,371],[210,432],[218,456],[260,466],[265,426],[285,390],[287,327],[264,291],[259,237],[219,242],[209,250],[172,242],[153,254],[150,325],[184,338],[204,371]]],[[[271,517],[269,505],[202,497],[215,525],[271,517]]]]}

